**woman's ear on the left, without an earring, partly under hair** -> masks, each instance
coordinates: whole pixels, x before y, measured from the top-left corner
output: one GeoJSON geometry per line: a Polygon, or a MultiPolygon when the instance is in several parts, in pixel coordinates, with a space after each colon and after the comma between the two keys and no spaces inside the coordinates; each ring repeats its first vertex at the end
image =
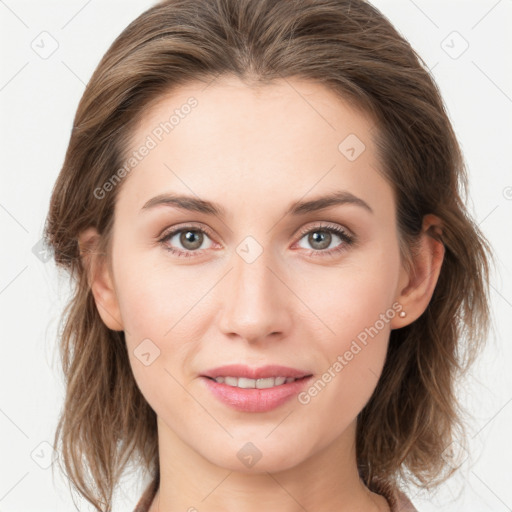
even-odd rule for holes
{"type": "Polygon", "coordinates": [[[100,240],[101,235],[95,228],[91,227],[81,232],[78,237],[80,257],[103,323],[113,331],[122,331],[124,327],[114,280],[106,255],[99,252],[100,240]]]}

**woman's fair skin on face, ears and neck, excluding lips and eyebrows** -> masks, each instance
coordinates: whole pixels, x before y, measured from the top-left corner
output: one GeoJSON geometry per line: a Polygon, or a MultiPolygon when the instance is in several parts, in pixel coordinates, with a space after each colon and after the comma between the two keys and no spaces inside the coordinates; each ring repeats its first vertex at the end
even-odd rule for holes
{"type": "MultiPolygon", "coordinates": [[[[98,311],[110,329],[125,331],[134,377],[157,414],[161,483],[151,512],[389,510],[359,479],[356,419],[381,374],[390,331],[426,309],[443,246],[424,234],[415,275],[405,271],[392,188],[378,172],[376,126],[317,84],[289,79],[255,89],[223,77],[207,88],[181,86],[145,113],[132,150],[190,96],[197,107],[122,183],[112,269],[99,265],[91,277],[98,311]],[[366,146],[353,161],[338,149],[349,134],[366,146]],[[295,201],[338,190],[373,213],[346,203],[284,215],[295,201]],[[225,215],[142,208],[163,193],[215,202],[225,215]],[[190,223],[210,233],[199,249],[179,234],[158,242],[164,230],[190,223]],[[329,237],[320,225],[357,243],[331,233],[322,248],[301,234],[329,237]],[[263,251],[250,263],[237,252],[247,236],[263,251]],[[294,398],[266,412],[237,411],[200,377],[224,364],[273,363],[319,378],[393,303],[407,316],[389,319],[308,404],[294,398]],[[148,366],[134,354],[147,338],[160,350],[148,366]],[[248,442],[261,453],[252,467],[237,457],[248,442]]],[[[435,224],[425,217],[424,230],[435,224]]],[[[80,240],[95,237],[91,228],[80,240]]]]}

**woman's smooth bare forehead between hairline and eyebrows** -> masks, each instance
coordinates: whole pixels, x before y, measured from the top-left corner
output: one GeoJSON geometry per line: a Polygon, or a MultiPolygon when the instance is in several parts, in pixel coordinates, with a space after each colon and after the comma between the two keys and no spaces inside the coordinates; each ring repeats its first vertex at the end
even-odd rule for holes
{"type": "Polygon", "coordinates": [[[151,149],[126,185],[139,208],[165,189],[216,201],[240,195],[270,201],[366,188],[363,195],[378,200],[387,184],[378,173],[376,130],[370,116],[314,82],[190,83],[146,109],[130,151],[148,141],[151,149]]]}

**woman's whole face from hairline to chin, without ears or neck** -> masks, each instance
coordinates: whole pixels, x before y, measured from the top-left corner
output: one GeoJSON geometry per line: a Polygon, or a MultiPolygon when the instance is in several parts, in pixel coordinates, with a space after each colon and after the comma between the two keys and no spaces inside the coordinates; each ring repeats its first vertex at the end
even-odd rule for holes
{"type": "Polygon", "coordinates": [[[238,471],[353,443],[405,283],[375,129],[320,85],[227,78],[181,87],[138,125],[109,314],[162,437],[238,471]],[[252,374],[270,388],[244,390],[205,376],[224,365],[310,377],[270,369],[252,374]]]}

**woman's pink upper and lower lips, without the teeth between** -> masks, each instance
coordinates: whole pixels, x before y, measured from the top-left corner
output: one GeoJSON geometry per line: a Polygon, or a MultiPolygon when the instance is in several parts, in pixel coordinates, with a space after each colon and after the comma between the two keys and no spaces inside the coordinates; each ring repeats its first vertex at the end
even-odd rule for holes
{"type": "Polygon", "coordinates": [[[290,400],[300,393],[311,374],[286,368],[284,366],[264,366],[262,368],[249,368],[248,366],[229,365],[215,368],[206,372],[201,377],[206,387],[226,405],[242,412],[266,412],[290,400]],[[300,378],[294,382],[281,384],[267,389],[242,389],[227,384],[219,384],[212,380],[214,377],[232,376],[247,377],[249,379],[264,379],[266,377],[294,377],[300,378]]]}

